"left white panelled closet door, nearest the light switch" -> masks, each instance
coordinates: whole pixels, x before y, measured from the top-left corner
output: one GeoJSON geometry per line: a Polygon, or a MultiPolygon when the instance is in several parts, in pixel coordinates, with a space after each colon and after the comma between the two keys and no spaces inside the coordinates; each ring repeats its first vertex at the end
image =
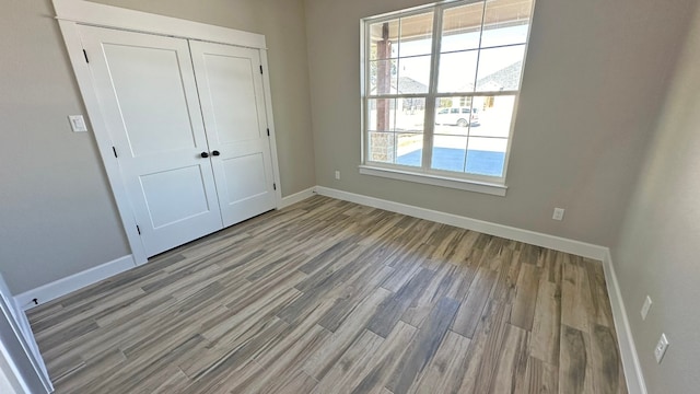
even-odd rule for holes
{"type": "Polygon", "coordinates": [[[149,256],[222,228],[185,39],[80,26],[149,256]]]}

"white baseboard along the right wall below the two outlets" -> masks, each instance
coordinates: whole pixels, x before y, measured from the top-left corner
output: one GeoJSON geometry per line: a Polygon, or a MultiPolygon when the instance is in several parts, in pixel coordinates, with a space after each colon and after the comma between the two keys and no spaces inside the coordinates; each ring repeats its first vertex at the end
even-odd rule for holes
{"type": "Polygon", "coordinates": [[[620,347],[620,357],[622,359],[622,368],[625,369],[625,379],[627,381],[627,390],[630,394],[646,394],[646,383],[642,373],[642,366],[639,362],[637,346],[632,337],[630,322],[627,318],[627,309],[620,292],[620,285],[617,281],[615,266],[610,251],[607,250],[605,258],[603,258],[603,269],[605,271],[605,282],[608,288],[610,298],[610,306],[612,308],[612,318],[615,321],[615,331],[617,332],[617,341],[620,347]]]}

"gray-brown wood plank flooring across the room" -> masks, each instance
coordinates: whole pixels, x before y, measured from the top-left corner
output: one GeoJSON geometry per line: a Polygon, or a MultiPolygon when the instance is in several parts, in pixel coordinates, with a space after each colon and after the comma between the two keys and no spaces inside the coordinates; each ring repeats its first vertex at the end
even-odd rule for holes
{"type": "Polygon", "coordinates": [[[28,315],[57,393],[627,393],[599,262],[318,196],[28,315]]]}

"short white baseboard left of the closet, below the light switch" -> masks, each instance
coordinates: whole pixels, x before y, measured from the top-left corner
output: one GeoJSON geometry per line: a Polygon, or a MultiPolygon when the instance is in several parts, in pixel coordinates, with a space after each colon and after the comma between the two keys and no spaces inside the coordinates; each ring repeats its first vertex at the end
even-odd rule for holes
{"type": "Polygon", "coordinates": [[[85,269],[84,271],[73,274],[69,277],[58,279],[50,283],[46,283],[36,289],[25,291],[21,294],[15,296],[14,299],[18,305],[26,311],[35,306],[34,302],[32,302],[32,300],[34,299],[37,299],[39,303],[46,303],[75,290],[113,277],[117,274],[129,270],[136,266],[137,265],[133,262],[133,256],[124,256],[103,265],[85,269]]]}

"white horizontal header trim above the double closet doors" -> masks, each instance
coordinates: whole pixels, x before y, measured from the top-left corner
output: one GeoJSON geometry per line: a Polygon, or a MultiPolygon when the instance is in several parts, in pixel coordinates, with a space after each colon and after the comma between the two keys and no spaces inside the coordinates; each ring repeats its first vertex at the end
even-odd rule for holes
{"type": "Polygon", "coordinates": [[[54,0],[60,21],[160,34],[180,38],[265,49],[265,36],[255,33],[151,14],[82,0],[54,0]]]}

